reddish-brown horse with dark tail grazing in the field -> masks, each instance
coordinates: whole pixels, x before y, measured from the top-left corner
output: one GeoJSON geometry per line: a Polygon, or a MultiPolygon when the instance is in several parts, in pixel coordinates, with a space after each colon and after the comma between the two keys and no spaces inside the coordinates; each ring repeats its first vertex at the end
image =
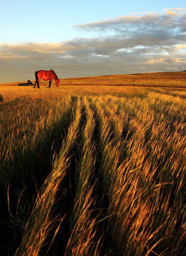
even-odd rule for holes
{"type": "MultiPolygon", "coordinates": [[[[35,72],[35,85],[37,84],[38,88],[40,88],[39,83],[40,83],[41,79],[43,79],[45,81],[50,80],[49,81],[49,88],[50,88],[52,80],[54,79],[56,81],[56,86],[59,87],[59,82],[60,81],[59,81],[56,73],[52,69],[50,69],[50,70],[39,70],[39,71],[35,72]]],[[[34,85],[34,88],[35,88],[35,85],[34,85]]]]}

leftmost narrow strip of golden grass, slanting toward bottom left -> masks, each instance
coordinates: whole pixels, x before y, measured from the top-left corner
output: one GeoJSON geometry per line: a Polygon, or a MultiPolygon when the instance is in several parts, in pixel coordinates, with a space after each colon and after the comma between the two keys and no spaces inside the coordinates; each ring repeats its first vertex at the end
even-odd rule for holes
{"type": "MultiPolygon", "coordinates": [[[[59,190],[61,180],[65,176],[65,170],[69,160],[67,156],[76,141],[80,117],[81,109],[80,101],[78,101],[74,122],[68,130],[67,138],[62,144],[59,156],[54,161],[53,170],[43,183],[43,187],[36,198],[31,217],[25,226],[22,242],[15,255],[40,255],[43,245],[46,243],[53,222],[57,218],[53,218],[52,215],[55,207],[56,193],[59,190]]],[[[64,218],[60,220],[60,223],[64,218]]],[[[59,226],[56,232],[58,228],[59,226]]]]}

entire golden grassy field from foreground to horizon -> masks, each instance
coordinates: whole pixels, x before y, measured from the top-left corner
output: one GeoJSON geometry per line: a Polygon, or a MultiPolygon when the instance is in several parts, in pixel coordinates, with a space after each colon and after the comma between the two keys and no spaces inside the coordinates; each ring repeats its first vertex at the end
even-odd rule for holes
{"type": "Polygon", "coordinates": [[[186,72],[25,83],[0,84],[0,255],[186,255],[186,72]]]}

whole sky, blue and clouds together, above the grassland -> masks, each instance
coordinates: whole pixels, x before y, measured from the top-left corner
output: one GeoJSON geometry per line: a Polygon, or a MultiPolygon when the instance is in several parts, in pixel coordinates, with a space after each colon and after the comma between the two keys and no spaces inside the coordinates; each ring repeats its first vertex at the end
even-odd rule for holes
{"type": "Polygon", "coordinates": [[[3,1],[0,83],[186,70],[186,2],[3,1]]]}

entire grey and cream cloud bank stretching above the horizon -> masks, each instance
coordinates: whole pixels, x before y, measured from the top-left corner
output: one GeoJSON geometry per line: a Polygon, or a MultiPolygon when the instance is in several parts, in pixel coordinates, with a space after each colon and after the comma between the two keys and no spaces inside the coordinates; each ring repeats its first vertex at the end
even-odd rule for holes
{"type": "Polygon", "coordinates": [[[91,38],[1,44],[0,83],[34,80],[36,69],[50,68],[60,78],[185,70],[185,9],[164,11],[75,26],[91,38]]]}

